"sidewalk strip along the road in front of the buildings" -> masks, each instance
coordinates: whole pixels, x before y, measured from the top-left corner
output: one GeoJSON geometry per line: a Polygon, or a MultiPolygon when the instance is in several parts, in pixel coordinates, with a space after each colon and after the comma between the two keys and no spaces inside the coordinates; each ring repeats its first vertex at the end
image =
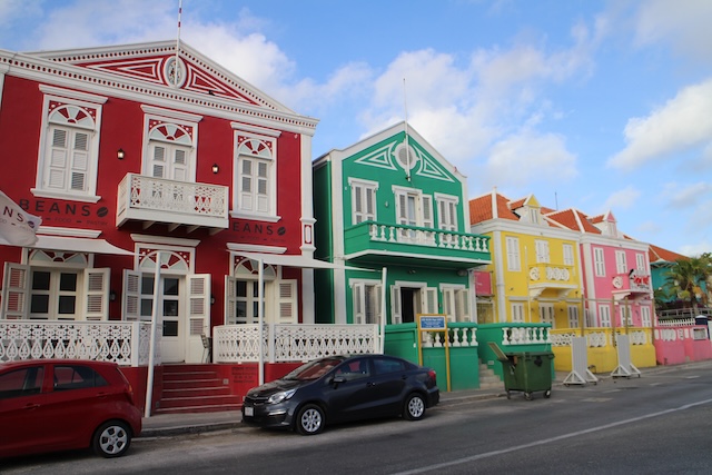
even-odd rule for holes
{"type": "MultiPolygon", "coordinates": [[[[696,365],[711,365],[712,362],[693,362],[673,366],[656,366],[653,368],[641,368],[641,373],[645,374],[676,370],[680,367],[691,367],[696,365]]],[[[563,380],[568,374],[557,372],[553,386],[562,386],[563,380]]],[[[610,373],[596,375],[600,382],[611,379],[610,373]]],[[[506,397],[504,385],[494,389],[464,389],[445,392],[441,390],[441,406],[451,404],[461,404],[471,400],[493,399],[497,397],[506,397]]],[[[248,428],[243,425],[243,415],[239,410],[228,410],[219,413],[191,413],[191,414],[161,414],[144,418],[144,429],[137,439],[146,439],[151,437],[168,437],[180,434],[199,434],[212,431],[226,431],[248,428]]]]}

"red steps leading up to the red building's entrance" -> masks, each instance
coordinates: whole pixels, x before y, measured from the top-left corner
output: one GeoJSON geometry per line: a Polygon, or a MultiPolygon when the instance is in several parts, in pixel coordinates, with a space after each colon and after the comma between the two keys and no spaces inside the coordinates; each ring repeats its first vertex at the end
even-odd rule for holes
{"type": "Polygon", "coordinates": [[[164,365],[164,390],[156,414],[238,410],[241,400],[230,394],[211,365],[164,365]]]}

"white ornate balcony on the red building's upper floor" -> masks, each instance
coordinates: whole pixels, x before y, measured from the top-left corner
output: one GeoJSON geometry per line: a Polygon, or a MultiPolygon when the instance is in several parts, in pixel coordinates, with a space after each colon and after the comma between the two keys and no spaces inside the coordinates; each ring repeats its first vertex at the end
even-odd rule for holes
{"type": "Polygon", "coordinates": [[[228,188],[128,174],[119,184],[116,224],[140,221],[168,230],[185,226],[188,232],[206,228],[210,234],[227,229],[228,188]]]}

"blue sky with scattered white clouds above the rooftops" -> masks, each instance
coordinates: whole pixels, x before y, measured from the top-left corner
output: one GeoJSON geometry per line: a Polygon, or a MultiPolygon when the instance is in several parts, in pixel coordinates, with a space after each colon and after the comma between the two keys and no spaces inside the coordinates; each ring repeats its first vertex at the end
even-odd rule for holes
{"type": "Polygon", "coordinates": [[[177,39],[319,119],[314,157],[407,118],[468,198],[613,212],[712,251],[710,0],[0,0],[0,48],[177,39]]]}

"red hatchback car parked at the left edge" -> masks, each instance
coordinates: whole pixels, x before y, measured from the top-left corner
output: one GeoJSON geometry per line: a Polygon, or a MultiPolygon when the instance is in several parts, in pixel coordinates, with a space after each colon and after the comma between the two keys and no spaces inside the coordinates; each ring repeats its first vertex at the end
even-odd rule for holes
{"type": "Polygon", "coordinates": [[[0,363],[0,457],[91,447],[118,457],[141,432],[134,389],[113,363],[0,363]]]}

